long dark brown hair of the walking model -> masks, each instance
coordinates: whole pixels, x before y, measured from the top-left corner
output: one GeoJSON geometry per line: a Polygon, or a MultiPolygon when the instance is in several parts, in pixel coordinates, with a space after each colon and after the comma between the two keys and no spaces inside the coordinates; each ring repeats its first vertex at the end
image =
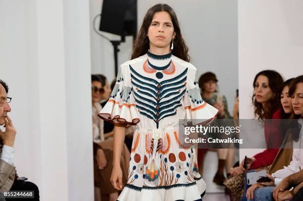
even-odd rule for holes
{"type": "Polygon", "coordinates": [[[152,6],[146,13],[142,26],[140,28],[137,39],[135,40],[134,49],[132,53],[132,59],[135,59],[139,56],[142,56],[147,53],[150,48],[150,40],[147,36],[149,27],[152,23],[153,15],[156,12],[165,11],[170,15],[171,21],[174,26],[174,31],[176,33],[174,39],[174,49],[172,50],[172,54],[180,59],[189,62],[190,56],[188,55],[188,47],[185,44],[185,41],[182,38],[181,30],[179,26],[179,22],[176,16],[175,11],[167,4],[156,4],[152,6]]]}

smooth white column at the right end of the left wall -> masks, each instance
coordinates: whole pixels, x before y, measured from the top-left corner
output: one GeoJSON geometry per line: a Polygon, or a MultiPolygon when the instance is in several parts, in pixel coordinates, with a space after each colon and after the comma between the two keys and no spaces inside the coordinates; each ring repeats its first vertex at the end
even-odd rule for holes
{"type": "Polygon", "coordinates": [[[63,0],[69,201],[94,200],[88,0],[63,0]]]}

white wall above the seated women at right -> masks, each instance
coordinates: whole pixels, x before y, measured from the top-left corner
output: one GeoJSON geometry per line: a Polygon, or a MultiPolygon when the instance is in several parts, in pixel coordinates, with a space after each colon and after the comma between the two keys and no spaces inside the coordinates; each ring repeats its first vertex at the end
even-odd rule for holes
{"type": "MultiPolygon", "coordinates": [[[[303,1],[239,0],[240,118],[253,119],[254,76],[266,69],[286,79],[303,74],[303,1]]],[[[241,158],[259,150],[241,150],[241,158]]]]}

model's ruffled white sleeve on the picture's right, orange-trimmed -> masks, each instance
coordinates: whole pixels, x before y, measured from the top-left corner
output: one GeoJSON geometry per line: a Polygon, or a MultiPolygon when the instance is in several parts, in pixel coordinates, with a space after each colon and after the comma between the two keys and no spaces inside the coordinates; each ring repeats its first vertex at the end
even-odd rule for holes
{"type": "Polygon", "coordinates": [[[186,111],[186,120],[192,124],[211,123],[218,115],[218,110],[204,102],[198,86],[197,69],[192,67],[188,70],[186,81],[186,93],[183,104],[186,111]]]}

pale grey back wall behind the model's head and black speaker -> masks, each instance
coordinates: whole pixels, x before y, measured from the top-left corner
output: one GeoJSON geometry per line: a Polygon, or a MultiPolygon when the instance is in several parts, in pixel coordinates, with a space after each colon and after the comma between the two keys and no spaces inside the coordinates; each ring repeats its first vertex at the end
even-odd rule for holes
{"type": "MultiPolygon", "coordinates": [[[[102,0],[90,0],[91,24],[101,13],[102,0]]],[[[138,0],[138,27],[144,15],[158,0],[138,0]]],[[[192,63],[198,74],[216,73],[219,92],[226,95],[232,113],[238,88],[238,39],[237,0],[162,0],[177,13],[181,31],[190,49],[192,63]],[[186,11],[186,12],[185,12],[186,11]]],[[[99,27],[99,20],[96,26],[99,27]]],[[[138,29],[139,29],[138,28],[138,29]]],[[[102,33],[111,38],[114,35],[102,33]]],[[[110,42],[98,36],[91,27],[92,73],[102,73],[109,80],[114,78],[113,49],[110,42]]],[[[121,45],[119,64],[127,61],[132,53],[132,40],[121,45]]]]}

